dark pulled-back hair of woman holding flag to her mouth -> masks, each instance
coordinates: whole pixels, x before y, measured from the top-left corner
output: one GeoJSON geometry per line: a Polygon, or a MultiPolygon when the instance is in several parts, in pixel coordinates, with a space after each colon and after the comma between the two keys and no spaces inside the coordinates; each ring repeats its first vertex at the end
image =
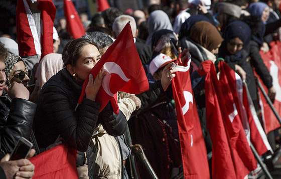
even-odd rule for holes
{"type": "Polygon", "coordinates": [[[97,45],[88,39],[74,39],[67,43],[62,52],[63,67],[75,66],[81,56],[82,48],[88,44],[92,44],[98,49],[97,45]]]}

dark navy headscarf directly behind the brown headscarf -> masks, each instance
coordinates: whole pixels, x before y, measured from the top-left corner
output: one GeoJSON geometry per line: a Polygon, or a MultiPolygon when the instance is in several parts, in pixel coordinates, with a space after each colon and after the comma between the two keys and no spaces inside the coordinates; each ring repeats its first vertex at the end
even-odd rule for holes
{"type": "Polygon", "coordinates": [[[179,36],[180,36],[179,39],[182,39],[184,37],[188,37],[189,33],[190,33],[191,27],[193,25],[195,25],[196,23],[201,22],[201,21],[207,21],[207,22],[212,24],[212,22],[206,16],[203,16],[203,15],[193,15],[190,18],[188,18],[182,24],[181,30],[180,30],[180,33],[179,33],[179,36]]]}

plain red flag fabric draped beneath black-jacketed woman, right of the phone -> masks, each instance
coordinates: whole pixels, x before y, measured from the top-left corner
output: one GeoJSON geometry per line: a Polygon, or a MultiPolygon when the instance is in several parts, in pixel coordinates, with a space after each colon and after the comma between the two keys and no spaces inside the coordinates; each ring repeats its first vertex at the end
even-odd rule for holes
{"type": "Polygon", "coordinates": [[[35,165],[35,175],[32,178],[77,179],[76,157],[77,150],[67,144],[40,153],[30,159],[35,165]]]}

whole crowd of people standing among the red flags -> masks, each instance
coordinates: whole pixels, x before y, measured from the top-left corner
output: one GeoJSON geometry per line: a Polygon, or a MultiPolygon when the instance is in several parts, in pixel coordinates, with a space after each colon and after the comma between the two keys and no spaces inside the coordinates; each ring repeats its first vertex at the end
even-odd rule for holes
{"type": "MultiPolygon", "coordinates": [[[[23,1],[30,7],[37,34],[43,36],[38,2],[23,1]]],[[[260,117],[255,74],[274,101],[276,90],[260,52],[267,53],[272,41],[280,41],[280,4],[278,0],[175,0],[151,4],[144,10],[122,12],[112,7],[96,13],[91,21],[82,14],[86,33],[78,39],[73,39],[63,18],[53,27],[53,53],[43,58],[43,53],[23,55],[23,46],[18,47],[16,41],[22,43],[24,38],[12,39],[14,36],[3,34],[0,37],[0,178],[32,178],[36,167],[30,158],[62,143],[78,150],[76,165],[87,164],[88,178],[131,178],[128,159],[132,150],[124,135],[127,126],[132,143],[142,145],[159,178],[173,178],[182,172],[171,85],[179,54],[183,61],[187,54],[191,55],[189,73],[212,173],[209,155],[213,142],[207,128],[204,89],[206,72],[211,64],[223,59],[246,82],[260,117]],[[120,112],[115,114],[110,102],[99,112],[96,97],[107,72],[101,69],[93,78],[90,71],[128,22],[149,90],[136,95],[120,91],[120,112]],[[88,76],[85,98],[77,105],[88,76]],[[21,137],[30,140],[34,149],[27,158],[10,161],[9,154],[21,137]]],[[[261,117],[259,120],[262,123],[261,117]]],[[[276,151],[280,133],[274,130],[267,137],[276,151]]],[[[141,178],[151,177],[142,161],[136,160],[136,165],[141,178]]]]}

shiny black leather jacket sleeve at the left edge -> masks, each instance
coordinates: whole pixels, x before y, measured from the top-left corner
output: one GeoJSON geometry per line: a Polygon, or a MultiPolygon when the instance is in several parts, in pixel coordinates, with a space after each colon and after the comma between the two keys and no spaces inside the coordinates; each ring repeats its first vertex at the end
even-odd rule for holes
{"type": "Polygon", "coordinates": [[[0,99],[0,157],[12,153],[19,138],[29,139],[36,104],[25,99],[14,98],[10,103],[8,96],[0,99]]]}

